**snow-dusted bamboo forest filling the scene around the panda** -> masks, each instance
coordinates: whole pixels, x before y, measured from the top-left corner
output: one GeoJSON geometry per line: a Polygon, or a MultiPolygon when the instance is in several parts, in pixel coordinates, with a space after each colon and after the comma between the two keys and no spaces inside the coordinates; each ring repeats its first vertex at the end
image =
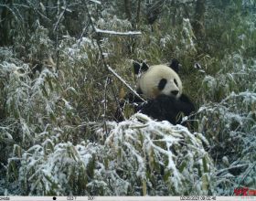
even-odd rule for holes
{"type": "Polygon", "coordinates": [[[0,17],[0,195],[256,188],[255,1],[1,0],[0,17]],[[114,122],[132,61],[172,58],[194,133],[128,104],[114,122]]]}

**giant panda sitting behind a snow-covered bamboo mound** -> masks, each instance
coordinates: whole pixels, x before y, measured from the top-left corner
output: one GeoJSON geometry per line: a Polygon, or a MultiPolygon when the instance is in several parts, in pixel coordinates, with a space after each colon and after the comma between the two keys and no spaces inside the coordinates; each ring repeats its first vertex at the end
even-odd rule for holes
{"type": "Polygon", "coordinates": [[[179,63],[176,59],[170,65],[148,66],[144,62],[133,62],[134,74],[138,76],[137,93],[147,100],[144,102],[129,93],[126,100],[134,103],[134,111],[175,125],[182,122],[182,116],[189,116],[195,111],[193,102],[182,91],[178,70],[179,63]]]}

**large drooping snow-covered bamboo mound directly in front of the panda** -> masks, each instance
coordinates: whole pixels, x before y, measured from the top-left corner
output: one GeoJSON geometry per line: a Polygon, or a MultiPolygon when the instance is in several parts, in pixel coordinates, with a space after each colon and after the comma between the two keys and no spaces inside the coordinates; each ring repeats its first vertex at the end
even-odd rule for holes
{"type": "MultiPolygon", "coordinates": [[[[172,195],[184,194],[187,191],[186,185],[191,185],[196,194],[203,194],[203,185],[206,184],[202,181],[199,190],[193,187],[195,179],[200,180],[200,175],[193,170],[200,166],[203,175],[209,178],[208,170],[210,167],[214,168],[202,146],[201,138],[190,133],[186,127],[174,126],[169,122],[155,122],[141,113],[133,115],[128,121],[108,122],[108,125],[111,131],[106,145],[111,148],[109,154],[117,155],[117,164],[128,160],[131,164],[129,166],[136,170],[136,176],[142,181],[146,180],[148,185],[152,184],[146,177],[147,171],[155,170],[156,175],[156,166],[164,165],[168,187],[175,190],[172,195]]],[[[161,175],[159,172],[158,174],[161,175]]]]}

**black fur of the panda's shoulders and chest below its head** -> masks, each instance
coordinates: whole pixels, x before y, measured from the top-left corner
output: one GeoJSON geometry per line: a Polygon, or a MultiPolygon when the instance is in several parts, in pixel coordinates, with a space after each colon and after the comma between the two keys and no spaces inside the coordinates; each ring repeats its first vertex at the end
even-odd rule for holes
{"type": "Polygon", "coordinates": [[[195,111],[195,106],[185,94],[182,94],[179,99],[162,94],[155,99],[140,104],[136,111],[140,111],[158,121],[166,120],[172,124],[179,124],[182,121],[179,118],[179,113],[182,112],[185,116],[188,116],[195,111]]]}

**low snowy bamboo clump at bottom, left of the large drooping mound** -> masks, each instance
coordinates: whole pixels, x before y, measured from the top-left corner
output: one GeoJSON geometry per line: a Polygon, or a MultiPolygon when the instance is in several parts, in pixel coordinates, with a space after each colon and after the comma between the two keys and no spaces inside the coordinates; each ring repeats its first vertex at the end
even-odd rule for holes
{"type": "Polygon", "coordinates": [[[54,143],[48,139],[42,146],[34,145],[23,153],[19,179],[22,183],[27,183],[23,176],[28,174],[27,187],[30,188],[31,195],[43,196],[52,191],[57,195],[65,195],[66,190],[69,190],[69,182],[76,176],[85,174],[91,154],[97,149],[91,143],[85,146],[83,142],[83,145],[76,146],[72,143],[58,143],[54,147],[46,144],[54,143]],[[40,193],[37,194],[38,192],[40,193]]]}

